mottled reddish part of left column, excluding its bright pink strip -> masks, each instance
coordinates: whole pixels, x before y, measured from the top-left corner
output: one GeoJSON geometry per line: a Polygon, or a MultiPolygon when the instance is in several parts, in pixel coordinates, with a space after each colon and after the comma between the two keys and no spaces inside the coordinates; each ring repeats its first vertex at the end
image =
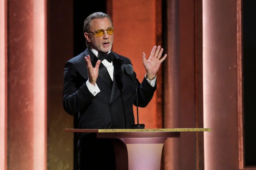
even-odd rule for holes
{"type": "Polygon", "coordinates": [[[9,6],[8,166],[33,169],[33,1],[11,0],[9,6]]]}

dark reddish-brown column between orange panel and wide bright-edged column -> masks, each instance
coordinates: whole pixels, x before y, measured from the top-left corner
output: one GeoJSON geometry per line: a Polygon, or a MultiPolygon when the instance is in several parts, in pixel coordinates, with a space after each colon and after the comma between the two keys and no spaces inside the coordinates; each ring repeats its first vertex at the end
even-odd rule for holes
{"type": "MultiPolygon", "coordinates": [[[[203,127],[202,1],[167,1],[164,127],[203,127]]],[[[167,140],[164,168],[203,169],[203,133],[167,140]]]]}

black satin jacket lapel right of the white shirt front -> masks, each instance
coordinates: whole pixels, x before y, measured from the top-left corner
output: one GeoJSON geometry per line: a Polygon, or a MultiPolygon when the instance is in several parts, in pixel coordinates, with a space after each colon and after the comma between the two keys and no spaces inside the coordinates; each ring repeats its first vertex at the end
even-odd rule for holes
{"type": "MultiPolygon", "coordinates": [[[[111,92],[110,102],[114,99],[115,93],[120,91],[122,93],[123,84],[121,81],[122,71],[121,66],[123,64],[123,60],[120,59],[116,54],[114,54],[113,58],[113,66],[114,66],[114,76],[113,76],[113,88],[111,92]]],[[[121,94],[122,95],[122,94],[121,94]]]]}

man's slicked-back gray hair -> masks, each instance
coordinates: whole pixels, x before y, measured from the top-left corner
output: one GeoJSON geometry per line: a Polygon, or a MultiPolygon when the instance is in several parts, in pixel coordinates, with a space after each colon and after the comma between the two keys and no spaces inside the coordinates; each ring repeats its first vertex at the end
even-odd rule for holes
{"type": "MultiPolygon", "coordinates": [[[[108,14],[105,14],[103,12],[94,12],[84,20],[84,33],[90,32],[90,24],[92,20],[104,19],[104,18],[108,18],[111,24],[113,25],[112,20],[108,14]]],[[[86,39],[86,47],[89,47],[89,46],[90,46],[90,42],[88,42],[86,39]]]]}

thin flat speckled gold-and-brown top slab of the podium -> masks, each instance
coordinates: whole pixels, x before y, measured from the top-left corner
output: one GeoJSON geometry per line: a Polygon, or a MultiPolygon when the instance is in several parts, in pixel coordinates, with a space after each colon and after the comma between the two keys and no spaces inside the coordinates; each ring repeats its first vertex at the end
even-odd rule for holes
{"type": "Polygon", "coordinates": [[[124,133],[124,132],[210,132],[210,128],[170,128],[170,129],[65,129],[65,132],[124,133]]]}

